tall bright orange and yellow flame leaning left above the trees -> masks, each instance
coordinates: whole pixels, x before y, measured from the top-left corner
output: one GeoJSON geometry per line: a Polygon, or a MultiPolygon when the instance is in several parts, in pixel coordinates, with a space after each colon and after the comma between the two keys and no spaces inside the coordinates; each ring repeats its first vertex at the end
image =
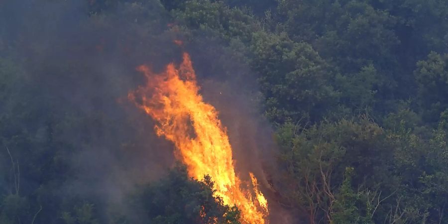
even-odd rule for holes
{"type": "Polygon", "coordinates": [[[267,201],[257,179],[250,173],[252,191],[241,187],[226,130],[216,109],[199,94],[190,56],[184,53],[179,67],[171,63],[160,74],[144,65],[137,70],[146,76],[147,83],[130,92],[128,98],[133,102],[138,99],[137,107],[157,121],[157,135],[174,143],[175,156],[186,164],[189,175],[198,180],[210,175],[215,196],[226,205],[236,205],[243,223],[267,223],[267,201]]]}

